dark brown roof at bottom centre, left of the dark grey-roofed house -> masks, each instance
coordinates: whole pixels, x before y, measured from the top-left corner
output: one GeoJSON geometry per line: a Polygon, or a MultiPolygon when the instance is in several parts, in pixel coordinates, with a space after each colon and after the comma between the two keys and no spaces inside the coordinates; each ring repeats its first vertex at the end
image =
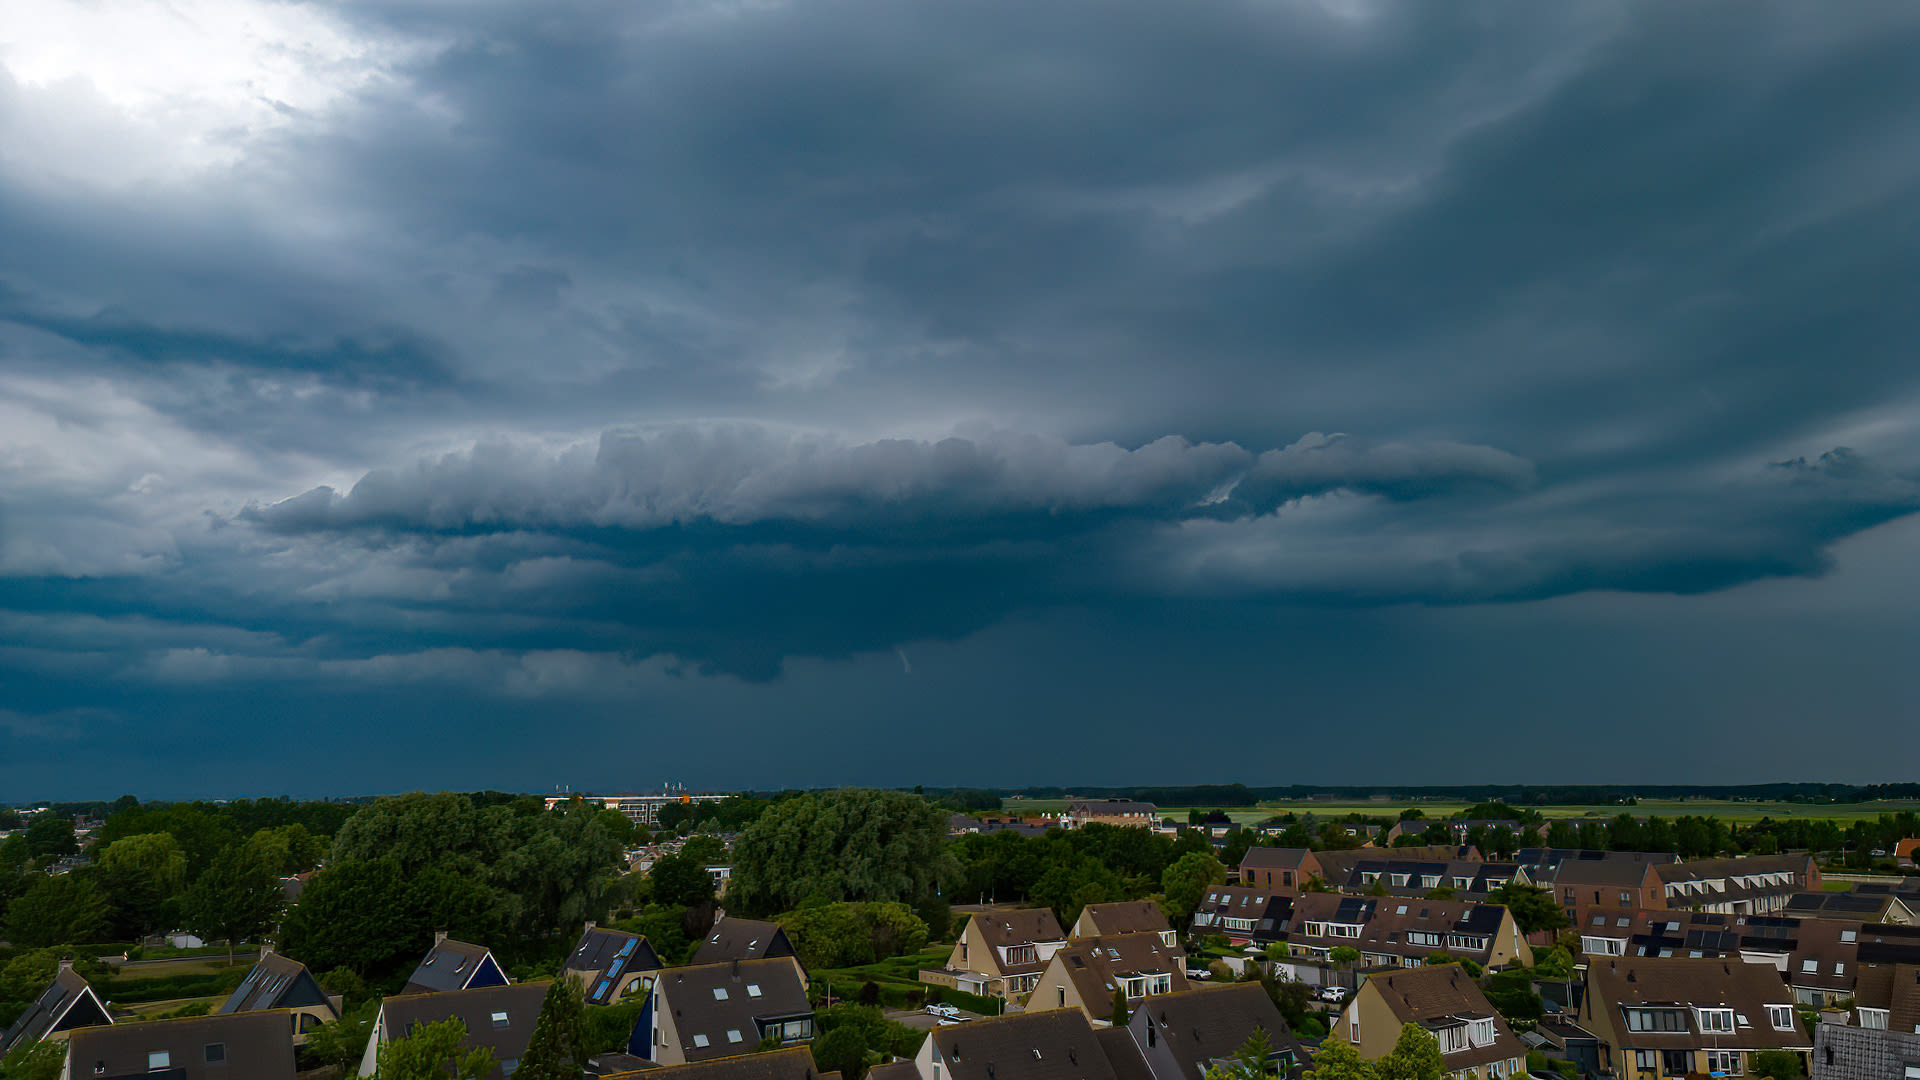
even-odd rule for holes
{"type": "Polygon", "coordinates": [[[1117,1080],[1079,1009],[952,1024],[927,1038],[952,1080],[1117,1080]]]}

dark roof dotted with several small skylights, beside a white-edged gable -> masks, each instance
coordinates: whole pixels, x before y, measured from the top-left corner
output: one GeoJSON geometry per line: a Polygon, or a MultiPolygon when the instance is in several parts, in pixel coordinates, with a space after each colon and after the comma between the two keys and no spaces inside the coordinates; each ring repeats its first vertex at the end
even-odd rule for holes
{"type": "Polygon", "coordinates": [[[812,1015],[806,984],[787,957],[674,967],[653,986],[657,1007],[672,1009],[687,1061],[751,1053],[762,1022],[812,1015]],[[707,1045],[693,1036],[705,1036],[707,1045]]]}

